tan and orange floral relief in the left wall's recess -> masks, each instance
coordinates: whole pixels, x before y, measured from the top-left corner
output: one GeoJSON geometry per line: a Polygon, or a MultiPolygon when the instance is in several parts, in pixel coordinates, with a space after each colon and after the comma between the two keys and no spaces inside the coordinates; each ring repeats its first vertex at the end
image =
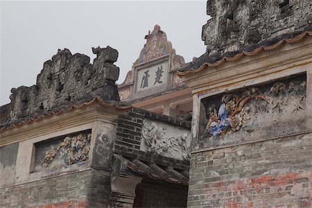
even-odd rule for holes
{"type": "Polygon", "coordinates": [[[69,165],[87,160],[89,158],[90,139],[91,133],[65,137],[58,145],[51,146],[50,150],[46,150],[42,166],[49,166],[58,154],[61,158],[64,157],[65,163],[69,165]]]}

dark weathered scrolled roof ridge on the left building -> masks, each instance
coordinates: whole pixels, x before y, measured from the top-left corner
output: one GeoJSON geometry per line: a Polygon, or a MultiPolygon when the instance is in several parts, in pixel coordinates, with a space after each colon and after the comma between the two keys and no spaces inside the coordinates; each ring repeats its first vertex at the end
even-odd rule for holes
{"type": "Polygon", "coordinates": [[[118,51],[110,46],[92,48],[96,58],[69,49],[58,50],[51,60],[44,62],[37,84],[12,88],[7,123],[19,122],[49,112],[66,109],[99,97],[104,101],[119,101],[115,81],[119,67],[113,63],[118,51]]]}

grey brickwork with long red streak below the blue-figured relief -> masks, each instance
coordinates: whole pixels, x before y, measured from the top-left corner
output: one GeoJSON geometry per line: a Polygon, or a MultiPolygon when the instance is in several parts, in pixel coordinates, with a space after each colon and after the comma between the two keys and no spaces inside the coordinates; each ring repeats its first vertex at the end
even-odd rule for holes
{"type": "Polygon", "coordinates": [[[194,153],[188,207],[311,207],[312,134],[194,153]]]}

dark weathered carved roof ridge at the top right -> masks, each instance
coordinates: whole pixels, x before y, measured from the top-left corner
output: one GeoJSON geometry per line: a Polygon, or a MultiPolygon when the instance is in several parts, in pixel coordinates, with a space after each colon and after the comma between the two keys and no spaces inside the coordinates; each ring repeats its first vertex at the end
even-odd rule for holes
{"type": "Polygon", "coordinates": [[[242,51],[287,33],[311,30],[309,0],[209,0],[202,40],[210,55],[242,51]]]}

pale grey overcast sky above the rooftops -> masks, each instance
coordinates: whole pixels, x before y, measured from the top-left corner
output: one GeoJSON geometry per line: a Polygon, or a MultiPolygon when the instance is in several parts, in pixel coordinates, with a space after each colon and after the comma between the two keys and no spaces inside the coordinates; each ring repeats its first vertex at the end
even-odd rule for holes
{"type": "Polygon", "coordinates": [[[206,1],[0,1],[0,105],[10,103],[12,87],[35,85],[58,49],[92,62],[92,46],[112,46],[122,83],[155,24],[189,62],[205,53],[207,19],[206,1]]]}

